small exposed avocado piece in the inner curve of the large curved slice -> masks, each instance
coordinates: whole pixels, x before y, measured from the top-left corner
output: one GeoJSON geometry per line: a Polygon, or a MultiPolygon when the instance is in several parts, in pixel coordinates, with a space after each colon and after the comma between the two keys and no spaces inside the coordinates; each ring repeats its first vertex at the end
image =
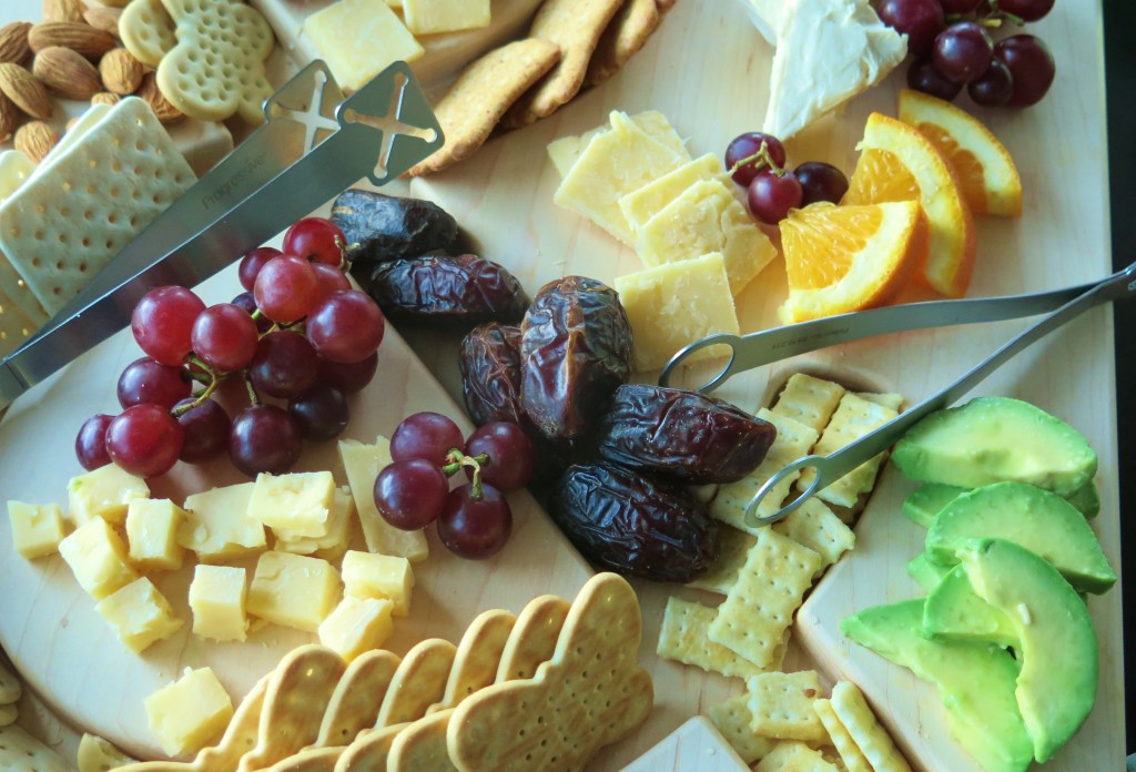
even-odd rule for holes
{"type": "Polygon", "coordinates": [[[1018,649],[1018,631],[1004,613],[975,594],[966,569],[954,567],[927,595],[924,632],[949,640],[971,640],[1018,649]]]}

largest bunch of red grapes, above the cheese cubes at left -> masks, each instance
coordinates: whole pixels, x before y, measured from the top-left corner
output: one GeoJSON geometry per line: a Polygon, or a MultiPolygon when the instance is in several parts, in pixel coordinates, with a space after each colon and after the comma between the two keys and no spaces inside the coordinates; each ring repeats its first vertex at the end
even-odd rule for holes
{"type": "Polygon", "coordinates": [[[351,288],[336,225],[302,219],[283,246],[242,258],[247,292],[231,303],[206,308],[179,286],[139,301],[131,330],[145,356],[118,379],[123,412],[93,416],[80,429],[75,454],[84,469],[114,462],[158,477],[178,460],[201,463],[227,452],[249,477],[282,473],[304,439],[343,430],[345,395],[375,375],[383,314],[351,288]],[[245,381],[249,404],[231,418],[214,396],[233,379],[245,381]]]}

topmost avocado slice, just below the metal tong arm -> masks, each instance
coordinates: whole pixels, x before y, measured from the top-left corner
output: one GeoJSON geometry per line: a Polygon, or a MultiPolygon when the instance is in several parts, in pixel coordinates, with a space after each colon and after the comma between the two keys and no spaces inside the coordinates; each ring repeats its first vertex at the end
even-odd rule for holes
{"type": "Polygon", "coordinates": [[[1096,453],[1068,423],[1028,402],[984,396],[932,413],[892,461],[922,482],[977,488],[1002,480],[1069,495],[1096,473],[1096,453]]]}

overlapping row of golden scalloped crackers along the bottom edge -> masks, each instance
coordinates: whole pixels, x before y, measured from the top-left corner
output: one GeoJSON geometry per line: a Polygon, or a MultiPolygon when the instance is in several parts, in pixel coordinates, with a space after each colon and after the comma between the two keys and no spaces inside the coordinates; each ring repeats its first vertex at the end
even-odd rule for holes
{"type": "Polygon", "coordinates": [[[301,646],[216,746],[120,772],[578,769],[651,712],[641,637],[635,591],[601,573],[573,603],[545,595],[518,615],[481,614],[457,646],[432,638],[401,658],[374,649],[350,663],[301,646]]]}

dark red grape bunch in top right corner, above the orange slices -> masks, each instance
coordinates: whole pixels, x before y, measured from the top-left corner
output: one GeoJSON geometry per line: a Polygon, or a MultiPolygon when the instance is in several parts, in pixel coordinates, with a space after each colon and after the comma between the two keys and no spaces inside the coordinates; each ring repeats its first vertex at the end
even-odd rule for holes
{"type": "Polygon", "coordinates": [[[1029,107],[1045,95],[1056,68],[1045,42],[1017,34],[997,43],[1003,22],[1036,22],[1054,0],[882,0],[879,18],[907,34],[914,60],[908,85],[953,100],[967,87],[983,107],[1029,107]]]}

